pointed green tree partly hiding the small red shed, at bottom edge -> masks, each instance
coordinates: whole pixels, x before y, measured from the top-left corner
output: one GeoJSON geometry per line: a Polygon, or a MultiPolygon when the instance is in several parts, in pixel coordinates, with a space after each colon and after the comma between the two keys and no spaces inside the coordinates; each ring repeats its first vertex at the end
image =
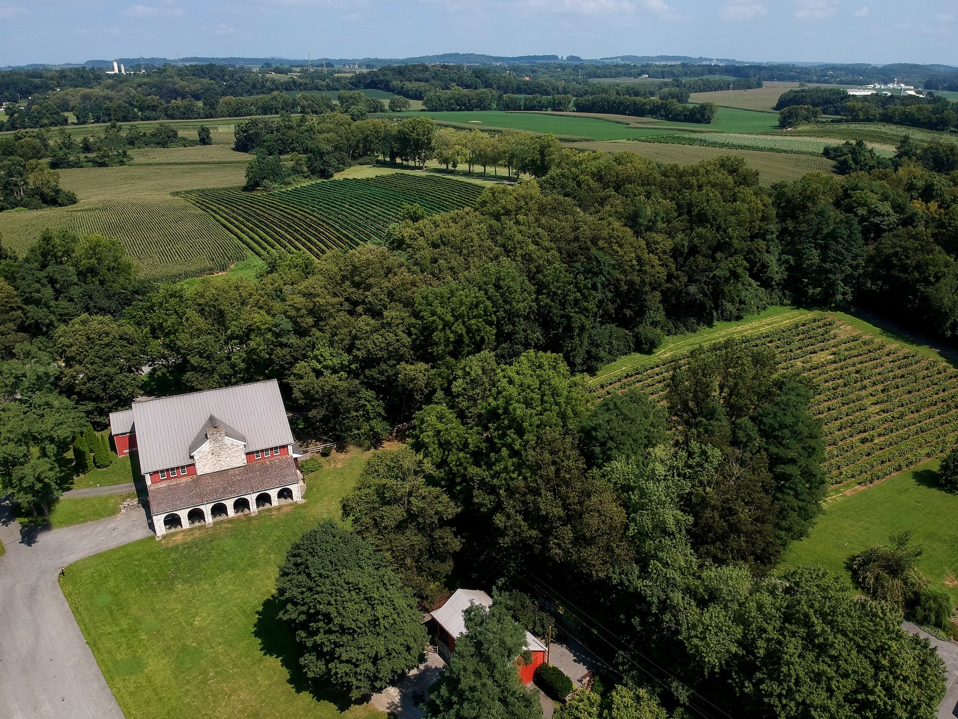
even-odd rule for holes
{"type": "Polygon", "coordinates": [[[466,635],[456,639],[449,666],[429,689],[431,719],[541,719],[538,691],[519,680],[516,659],[526,633],[509,610],[492,602],[464,613],[466,635]]]}

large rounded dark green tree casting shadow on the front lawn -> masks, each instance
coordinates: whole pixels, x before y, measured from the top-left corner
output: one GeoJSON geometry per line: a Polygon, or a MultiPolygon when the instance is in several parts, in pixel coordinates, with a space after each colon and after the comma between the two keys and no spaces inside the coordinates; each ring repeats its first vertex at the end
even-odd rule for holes
{"type": "Polygon", "coordinates": [[[422,661],[426,634],[412,594],[371,545],[335,522],[289,548],[276,596],[303,671],[353,699],[422,661]]]}

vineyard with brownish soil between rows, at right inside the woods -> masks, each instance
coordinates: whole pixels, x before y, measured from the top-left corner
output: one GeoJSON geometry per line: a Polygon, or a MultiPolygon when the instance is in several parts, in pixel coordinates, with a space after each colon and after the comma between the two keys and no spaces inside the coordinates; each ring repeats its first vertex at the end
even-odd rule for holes
{"type": "MultiPolygon", "coordinates": [[[[760,317],[707,341],[733,335],[771,347],[783,369],[814,384],[811,412],[822,424],[823,468],[832,484],[875,482],[939,457],[958,442],[958,370],[941,359],[863,333],[828,313],[760,317]]],[[[673,362],[697,344],[693,337],[684,341],[691,344],[613,363],[591,386],[600,396],[639,387],[664,402],[673,362]]]]}

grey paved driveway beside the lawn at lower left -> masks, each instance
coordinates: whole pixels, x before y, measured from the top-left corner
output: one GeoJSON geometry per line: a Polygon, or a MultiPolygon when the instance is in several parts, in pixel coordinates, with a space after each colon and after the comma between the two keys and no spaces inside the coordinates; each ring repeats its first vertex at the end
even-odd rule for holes
{"type": "MultiPolygon", "coordinates": [[[[57,583],[60,567],[152,534],[143,511],[21,532],[0,503],[0,717],[124,719],[57,583]]],[[[69,570],[69,569],[68,569],[69,570]]]]}

